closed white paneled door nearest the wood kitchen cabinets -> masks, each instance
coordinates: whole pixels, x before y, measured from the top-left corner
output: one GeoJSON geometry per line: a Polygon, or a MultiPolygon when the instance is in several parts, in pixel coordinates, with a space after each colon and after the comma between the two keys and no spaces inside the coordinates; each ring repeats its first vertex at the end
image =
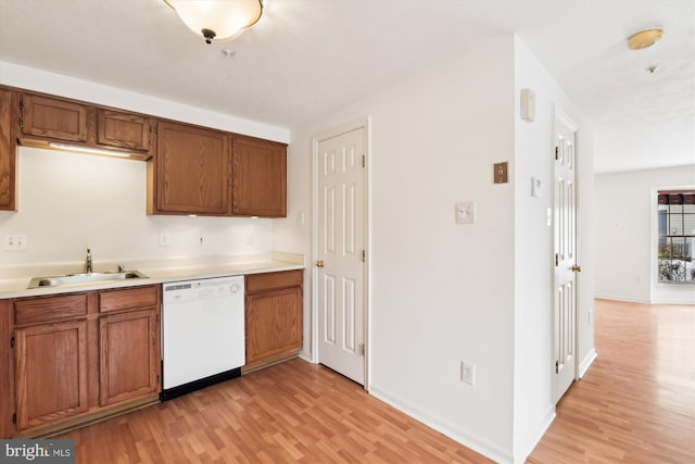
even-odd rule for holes
{"type": "Polygon", "coordinates": [[[315,146],[318,362],[365,384],[365,127],[315,146]]]}

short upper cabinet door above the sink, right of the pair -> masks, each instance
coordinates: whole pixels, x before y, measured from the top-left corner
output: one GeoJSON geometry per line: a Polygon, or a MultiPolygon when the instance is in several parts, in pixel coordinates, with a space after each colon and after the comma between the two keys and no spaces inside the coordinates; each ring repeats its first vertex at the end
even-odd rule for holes
{"type": "Polygon", "coordinates": [[[97,145],[150,151],[150,120],[137,114],[97,110],[97,145]]]}

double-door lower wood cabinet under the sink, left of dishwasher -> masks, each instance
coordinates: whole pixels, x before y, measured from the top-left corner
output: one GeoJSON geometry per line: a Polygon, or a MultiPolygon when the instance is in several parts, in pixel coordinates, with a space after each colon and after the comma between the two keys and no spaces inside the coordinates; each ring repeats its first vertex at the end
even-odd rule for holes
{"type": "Polygon", "coordinates": [[[7,317],[0,329],[13,334],[15,423],[0,417],[0,438],[53,434],[157,401],[159,286],[20,298],[0,310],[13,317],[13,331],[7,317]]]}

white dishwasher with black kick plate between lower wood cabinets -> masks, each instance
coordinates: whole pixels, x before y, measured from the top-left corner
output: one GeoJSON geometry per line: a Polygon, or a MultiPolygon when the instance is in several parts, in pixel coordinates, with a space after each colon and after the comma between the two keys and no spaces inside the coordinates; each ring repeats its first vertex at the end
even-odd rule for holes
{"type": "Polygon", "coordinates": [[[241,375],[243,299],[243,276],[163,285],[161,400],[241,375]]]}

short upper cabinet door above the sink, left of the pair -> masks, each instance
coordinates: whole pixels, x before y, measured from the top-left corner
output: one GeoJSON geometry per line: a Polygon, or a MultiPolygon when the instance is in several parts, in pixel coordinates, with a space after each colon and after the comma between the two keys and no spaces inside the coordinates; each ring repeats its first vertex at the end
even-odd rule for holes
{"type": "Polygon", "coordinates": [[[87,141],[87,105],[25,93],[22,133],[67,141],[87,141]]]}

